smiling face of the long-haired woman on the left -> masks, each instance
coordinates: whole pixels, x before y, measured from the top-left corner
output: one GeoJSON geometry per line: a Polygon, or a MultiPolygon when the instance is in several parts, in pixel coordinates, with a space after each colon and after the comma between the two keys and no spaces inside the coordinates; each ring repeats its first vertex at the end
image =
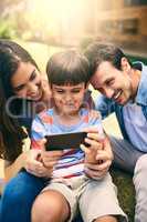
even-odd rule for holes
{"type": "Polygon", "coordinates": [[[14,94],[23,99],[39,101],[42,98],[40,71],[31,62],[20,62],[17,72],[11,78],[14,94]]]}

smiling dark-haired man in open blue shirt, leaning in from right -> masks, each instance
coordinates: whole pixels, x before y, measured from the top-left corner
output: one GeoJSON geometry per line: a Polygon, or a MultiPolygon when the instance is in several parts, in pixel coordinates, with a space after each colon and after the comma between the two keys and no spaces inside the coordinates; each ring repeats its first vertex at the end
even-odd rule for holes
{"type": "Polygon", "coordinates": [[[147,67],[130,63],[114,44],[92,43],[85,51],[91,83],[103,95],[96,109],[103,118],[115,112],[124,139],[111,138],[114,163],[134,173],[135,222],[147,218],[147,67]]]}

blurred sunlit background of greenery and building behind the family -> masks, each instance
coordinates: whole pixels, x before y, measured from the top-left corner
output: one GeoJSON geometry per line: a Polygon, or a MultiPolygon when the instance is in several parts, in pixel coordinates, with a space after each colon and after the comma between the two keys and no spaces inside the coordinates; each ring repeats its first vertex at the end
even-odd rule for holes
{"type": "MultiPolygon", "coordinates": [[[[117,42],[132,60],[147,63],[147,0],[0,0],[0,38],[25,47],[43,72],[52,53],[85,49],[93,39],[117,42]]],[[[108,133],[112,125],[120,134],[114,117],[108,133]]]]}

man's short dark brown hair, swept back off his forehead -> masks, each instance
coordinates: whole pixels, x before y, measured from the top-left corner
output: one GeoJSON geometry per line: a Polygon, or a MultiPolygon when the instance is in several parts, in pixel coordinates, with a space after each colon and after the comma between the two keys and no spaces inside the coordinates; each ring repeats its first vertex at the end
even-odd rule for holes
{"type": "Polygon", "coordinates": [[[122,49],[111,42],[94,41],[86,48],[84,54],[90,62],[91,77],[103,61],[108,61],[116,69],[122,70],[122,58],[125,57],[132,65],[129,59],[122,49]]]}

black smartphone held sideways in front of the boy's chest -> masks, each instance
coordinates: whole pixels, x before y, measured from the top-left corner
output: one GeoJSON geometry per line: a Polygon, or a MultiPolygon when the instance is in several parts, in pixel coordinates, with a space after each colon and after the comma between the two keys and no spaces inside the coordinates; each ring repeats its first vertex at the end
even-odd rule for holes
{"type": "Polygon", "coordinates": [[[86,137],[87,137],[86,132],[46,135],[45,149],[46,151],[78,149],[81,143],[85,144],[84,139],[86,137]]]}

